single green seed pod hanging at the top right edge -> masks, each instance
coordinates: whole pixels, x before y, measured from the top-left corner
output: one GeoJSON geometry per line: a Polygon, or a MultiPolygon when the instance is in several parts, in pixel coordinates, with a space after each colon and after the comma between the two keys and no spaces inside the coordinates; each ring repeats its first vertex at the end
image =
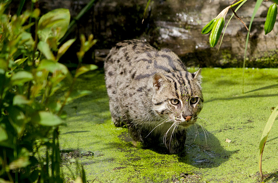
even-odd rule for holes
{"type": "Polygon", "coordinates": [[[273,3],[267,11],[266,20],[264,23],[264,34],[265,35],[272,31],[275,21],[276,21],[276,16],[277,16],[277,5],[276,5],[276,3],[273,3]]]}

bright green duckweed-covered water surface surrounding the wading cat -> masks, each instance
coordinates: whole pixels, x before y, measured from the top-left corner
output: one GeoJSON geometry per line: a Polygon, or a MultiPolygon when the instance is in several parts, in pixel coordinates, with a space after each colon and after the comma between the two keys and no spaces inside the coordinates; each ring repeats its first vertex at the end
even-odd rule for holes
{"type": "MultiPolygon", "coordinates": [[[[189,69],[191,72],[197,69],[189,69]]],[[[76,88],[92,95],[67,105],[66,126],[60,127],[63,172],[68,180],[76,158],[89,182],[260,182],[258,145],[278,103],[278,69],[203,68],[204,107],[199,124],[188,129],[185,151],[165,154],[134,148],[126,128],[111,122],[103,70],[78,79],[76,88]],[[225,142],[226,139],[231,139],[225,142]],[[93,155],[92,155],[93,153],[93,155]]],[[[278,121],[274,122],[263,153],[265,182],[278,181],[278,121]]]]}

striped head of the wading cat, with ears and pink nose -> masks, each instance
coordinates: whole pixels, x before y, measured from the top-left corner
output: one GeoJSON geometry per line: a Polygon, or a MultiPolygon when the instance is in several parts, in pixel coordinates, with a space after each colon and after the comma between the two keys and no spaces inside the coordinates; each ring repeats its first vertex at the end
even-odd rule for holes
{"type": "Polygon", "coordinates": [[[197,120],[203,107],[201,70],[153,75],[152,105],[157,116],[185,128],[197,120]]]}

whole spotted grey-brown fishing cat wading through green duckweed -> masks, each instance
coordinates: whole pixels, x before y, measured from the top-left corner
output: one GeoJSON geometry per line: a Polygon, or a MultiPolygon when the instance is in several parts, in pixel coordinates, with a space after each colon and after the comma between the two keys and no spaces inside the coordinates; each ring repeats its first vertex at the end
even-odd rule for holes
{"type": "Polygon", "coordinates": [[[201,68],[190,73],[174,52],[134,39],[116,44],[104,69],[115,126],[126,124],[131,137],[145,145],[182,151],[186,128],[203,106],[201,68]]]}

